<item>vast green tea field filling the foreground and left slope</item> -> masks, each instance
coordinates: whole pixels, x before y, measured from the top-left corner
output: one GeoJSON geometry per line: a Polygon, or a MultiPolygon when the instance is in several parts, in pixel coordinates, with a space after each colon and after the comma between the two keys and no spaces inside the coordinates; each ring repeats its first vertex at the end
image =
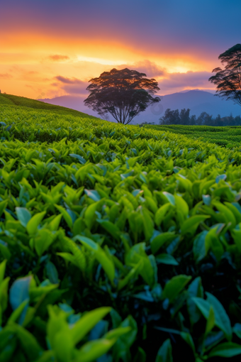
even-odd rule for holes
{"type": "Polygon", "coordinates": [[[0,361],[240,361],[239,147],[52,107],[0,95],[0,361]]]}

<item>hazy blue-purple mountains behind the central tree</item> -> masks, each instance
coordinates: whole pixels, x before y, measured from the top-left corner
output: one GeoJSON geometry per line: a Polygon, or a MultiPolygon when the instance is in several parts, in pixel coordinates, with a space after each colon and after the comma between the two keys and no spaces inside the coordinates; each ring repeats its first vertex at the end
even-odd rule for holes
{"type": "MultiPolygon", "coordinates": [[[[159,111],[159,105],[154,108],[148,107],[145,112],[142,112],[139,116],[135,117],[133,124],[140,124],[142,122],[155,122],[159,123],[159,118],[164,114],[164,111],[170,109],[191,109],[190,114],[196,114],[199,116],[201,112],[206,111],[213,117],[220,114],[221,117],[238,116],[241,114],[241,108],[237,104],[233,104],[232,101],[226,101],[216,97],[211,92],[205,92],[201,90],[190,90],[180,93],[167,94],[165,96],[159,96],[161,98],[161,110],[159,111]]],[[[52,99],[40,99],[41,102],[49,104],[57,104],[59,106],[65,106],[68,108],[76,109],[77,111],[86,112],[92,116],[98,116],[96,112],[88,109],[84,106],[84,99],[86,96],[62,96],[52,99]]],[[[110,116],[110,121],[114,119],[110,116]]]]}

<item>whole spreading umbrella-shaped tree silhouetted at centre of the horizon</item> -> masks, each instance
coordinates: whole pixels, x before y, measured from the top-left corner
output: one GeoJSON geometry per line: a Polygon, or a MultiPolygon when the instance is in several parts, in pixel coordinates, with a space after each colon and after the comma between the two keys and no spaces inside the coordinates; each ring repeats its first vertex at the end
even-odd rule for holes
{"type": "Polygon", "coordinates": [[[110,113],[120,124],[129,124],[147,106],[160,101],[152,97],[159,90],[157,81],[136,70],[114,68],[89,82],[90,94],[84,104],[106,119],[110,113]]]}

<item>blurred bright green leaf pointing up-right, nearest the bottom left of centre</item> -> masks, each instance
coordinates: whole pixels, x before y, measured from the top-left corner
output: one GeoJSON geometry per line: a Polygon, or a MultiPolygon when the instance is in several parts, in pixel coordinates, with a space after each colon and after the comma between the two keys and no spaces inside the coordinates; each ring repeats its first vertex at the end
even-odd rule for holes
{"type": "Polygon", "coordinates": [[[74,345],[82,341],[84,336],[109,312],[111,312],[111,307],[100,307],[84,314],[69,330],[74,345]]]}

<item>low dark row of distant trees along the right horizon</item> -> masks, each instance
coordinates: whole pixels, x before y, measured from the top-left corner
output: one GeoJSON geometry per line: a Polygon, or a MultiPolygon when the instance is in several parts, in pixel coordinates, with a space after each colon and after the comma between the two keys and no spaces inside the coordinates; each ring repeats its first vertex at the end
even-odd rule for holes
{"type": "Polygon", "coordinates": [[[190,116],[190,109],[176,109],[171,111],[171,109],[166,109],[164,116],[159,119],[159,124],[183,124],[186,126],[241,126],[241,117],[230,116],[221,117],[220,114],[216,118],[208,114],[207,112],[202,112],[200,116],[190,116]]]}

